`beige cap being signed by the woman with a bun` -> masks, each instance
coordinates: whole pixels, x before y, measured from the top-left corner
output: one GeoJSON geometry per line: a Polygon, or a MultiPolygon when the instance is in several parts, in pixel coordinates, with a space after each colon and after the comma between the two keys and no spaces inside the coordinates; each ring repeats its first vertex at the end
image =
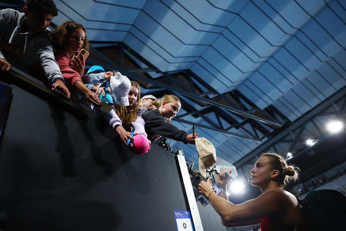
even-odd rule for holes
{"type": "Polygon", "coordinates": [[[216,150],[214,145],[204,137],[197,137],[195,142],[199,156],[198,169],[201,176],[205,179],[206,169],[216,163],[216,150]]]}

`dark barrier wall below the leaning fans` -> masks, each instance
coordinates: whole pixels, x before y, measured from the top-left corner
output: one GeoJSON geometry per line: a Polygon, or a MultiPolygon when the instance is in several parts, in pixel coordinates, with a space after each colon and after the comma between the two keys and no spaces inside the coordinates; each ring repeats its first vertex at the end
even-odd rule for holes
{"type": "Polygon", "coordinates": [[[152,145],[137,156],[102,116],[87,121],[7,85],[3,230],[176,230],[173,211],[189,208],[173,153],[152,145]]]}

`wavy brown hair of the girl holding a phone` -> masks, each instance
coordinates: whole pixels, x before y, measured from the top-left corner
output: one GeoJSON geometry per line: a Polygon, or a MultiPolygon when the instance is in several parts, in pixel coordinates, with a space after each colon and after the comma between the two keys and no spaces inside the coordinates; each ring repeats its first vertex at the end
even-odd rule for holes
{"type": "Polygon", "coordinates": [[[84,30],[85,38],[84,38],[84,44],[83,49],[88,51],[89,50],[89,41],[86,37],[86,31],[82,24],[75,23],[73,21],[65,21],[64,23],[60,24],[58,27],[56,27],[55,31],[51,34],[52,44],[57,50],[66,50],[67,43],[69,42],[70,37],[72,36],[73,32],[81,28],[84,30]]]}

